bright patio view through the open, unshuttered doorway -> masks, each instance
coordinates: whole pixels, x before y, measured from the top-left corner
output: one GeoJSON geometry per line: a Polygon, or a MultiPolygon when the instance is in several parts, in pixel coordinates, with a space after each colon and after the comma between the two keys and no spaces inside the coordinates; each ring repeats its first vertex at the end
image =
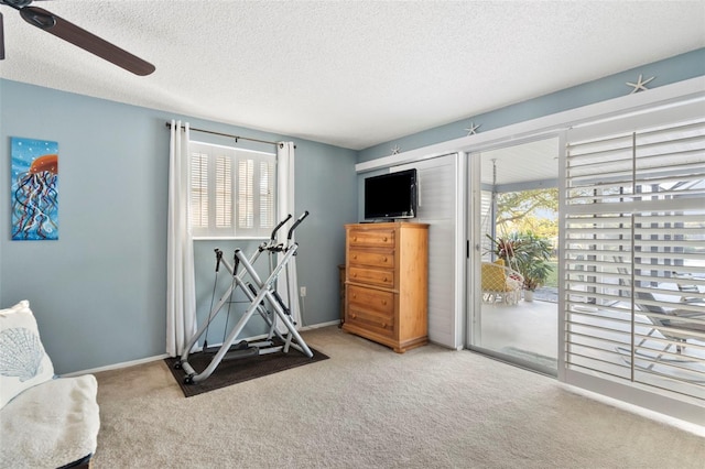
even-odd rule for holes
{"type": "Polygon", "coordinates": [[[553,375],[558,349],[557,156],[558,139],[551,138],[473,153],[468,165],[468,348],[553,375]],[[550,259],[522,263],[525,259],[513,250],[532,241],[544,251],[549,247],[550,259]],[[544,268],[535,292],[527,290],[533,286],[532,266],[544,268]]]}

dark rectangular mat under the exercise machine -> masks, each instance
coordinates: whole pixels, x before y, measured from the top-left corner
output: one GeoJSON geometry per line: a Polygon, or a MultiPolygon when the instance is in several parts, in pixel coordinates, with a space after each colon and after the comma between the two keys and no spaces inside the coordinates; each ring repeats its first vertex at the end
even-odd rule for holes
{"type": "MultiPolygon", "coordinates": [[[[308,358],[299,350],[291,348],[288,353],[276,352],[235,360],[223,360],[218,367],[216,367],[210,377],[202,382],[193,384],[184,384],[184,378],[186,374],[184,373],[184,370],[177,370],[174,368],[176,364],[175,358],[166,358],[164,361],[172,371],[172,374],[184,392],[184,395],[186,397],[191,397],[193,395],[203,394],[231,384],[265,377],[291,368],[315,363],[329,358],[328,356],[315,350],[313,347],[308,348],[313,352],[313,358],[308,358]]],[[[215,353],[191,353],[188,356],[188,363],[193,367],[196,373],[200,373],[206,369],[206,367],[208,367],[214,356],[215,353]]]]}

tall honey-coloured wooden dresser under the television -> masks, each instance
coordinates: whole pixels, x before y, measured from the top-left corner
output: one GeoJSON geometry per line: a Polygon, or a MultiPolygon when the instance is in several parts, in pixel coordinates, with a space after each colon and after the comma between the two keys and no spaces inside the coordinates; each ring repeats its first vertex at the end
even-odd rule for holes
{"type": "Polygon", "coordinates": [[[403,353],[429,341],[429,225],[346,225],[343,330],[403,353]]]}

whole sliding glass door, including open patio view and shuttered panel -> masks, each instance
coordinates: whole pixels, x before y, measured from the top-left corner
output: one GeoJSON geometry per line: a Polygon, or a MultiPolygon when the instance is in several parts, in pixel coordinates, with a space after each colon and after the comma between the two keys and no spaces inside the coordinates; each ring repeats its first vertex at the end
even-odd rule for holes
{"type": "Polygon", "coordinates": [[[468,348],[705,424],[704,101],[469,154],[468,348]]]}

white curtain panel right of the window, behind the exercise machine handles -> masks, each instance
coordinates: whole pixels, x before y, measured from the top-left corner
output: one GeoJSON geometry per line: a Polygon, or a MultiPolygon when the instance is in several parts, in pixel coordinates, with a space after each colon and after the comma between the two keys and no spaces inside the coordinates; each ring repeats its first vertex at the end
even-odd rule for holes
{"type": "MultiPolygon", "coordinates": [[[[294,220],[301,215],[296,214],[294,207],[294,143],[280,142],[276,145],[276,207],[278,222],[283,220],[286,215],[291,214],[292,219],[283,226],[276,233],[279,242],[286,241],[286,234],[294,220]]],[[[295,231],[292,242],[295,240],[295,231]]],[[[282,254],[280,254],[281,259],[282,254]]],[[[284,298],[291,310],[292,319],[296,323],[296,329],[300,329],[301,310],[299,307],[299,280],[296,277],[296,257],[291,258],[286,264],[286,269],[276,280],[276,293],[284,298]]],[[[278,323],[280,332],[285,332],[286,328],[278,323]]]]}

